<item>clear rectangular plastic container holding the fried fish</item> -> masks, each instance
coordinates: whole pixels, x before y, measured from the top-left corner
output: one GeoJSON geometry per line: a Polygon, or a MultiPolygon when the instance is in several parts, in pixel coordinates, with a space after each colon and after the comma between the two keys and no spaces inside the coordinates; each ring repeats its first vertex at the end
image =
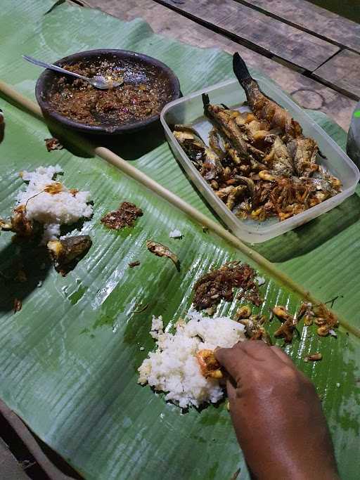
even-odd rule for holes
{"type": "Polygon", "coordinates": [[[307,113],[302,110],[293,100],[290,100],[284,93],[276,88],[276,86],[264,82],[262,79],[257,79],[260,88],[267,96],[275,100],[279,105],[286,108],[290,114],[302,126],[304,136],[310,136],[319,144],[321,153],[325,155],[326,159],[318,157],[319,164],[330,171],[340,179],[342,183],[342,191],[335,197],[329,198],[325,202],[311,207],[301,214],[297,214],[290,219],[278,221],[277,218],[267,219],[259,222],[252,219],[238,219],[226,205],[214,194],[212,188],[207,184],[205,179],[200,175],[197,169],[188,159],[186,153],[181,148],[176,138],[172,134],[169,126],[174,124],[191,124],[199,132],[200,136],[207,142],[209,131],[212,129],[212,124],[204,116],[202,93],[208,93],[211,103],[224,103],[229,108],[237,108],[238,110],[248,110],[242,104],[246,100],[245,91],[238,84],[236,79],[221,82],[219,84],[210,86],[201,91],[191,93],[179,100],[174,100],[168,103],[161,112],[162,127],[165,129],[167,141],[175,157],[184,167],[186,174],[193,181],[200,193],[210,203],[212,208],[217,212],[226,226],[229,227],[233,233],[246,242],[259,243],[274,238],[277,235],[288,232],[297,226],[307,223],[315,219],[337,205],[340,205],[345,198],[354,193],[356,184],[359,181],[359,170],[349,159],[349,157],[341,150],[339,145],[333,141],[328,134],[326,134],[319,125],[317,125],[307,113]]]}

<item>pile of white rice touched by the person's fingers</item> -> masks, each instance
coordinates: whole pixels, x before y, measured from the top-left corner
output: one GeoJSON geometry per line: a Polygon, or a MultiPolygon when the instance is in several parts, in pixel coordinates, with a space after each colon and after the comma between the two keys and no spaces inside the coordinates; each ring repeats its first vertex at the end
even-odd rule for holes
{"type": "Polygon", "coordinates": [[[164,332],[161,316],[153,316],[150,335],[156,340],[157,349],[141,364],[138,380],[157,391],[165,391],[165,399],[181,408],[215,403],[223,396],[219,380],[201,374],[196,353],[217,346],[231,347],[245,339],[243,325],[230,318],[203,317],[193,309],[188,311],[187,318],[187,323],[177,323],[172,334],[164,332]]]}

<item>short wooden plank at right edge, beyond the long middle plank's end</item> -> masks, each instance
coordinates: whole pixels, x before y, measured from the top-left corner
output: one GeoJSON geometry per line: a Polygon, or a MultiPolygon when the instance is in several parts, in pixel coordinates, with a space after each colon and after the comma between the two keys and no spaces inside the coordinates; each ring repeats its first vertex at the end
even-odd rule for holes
{"type": "Polygon", "coordinates": [[[344,50],[314,71],[316,78],[360,98],[360,55],[344,50]]]}

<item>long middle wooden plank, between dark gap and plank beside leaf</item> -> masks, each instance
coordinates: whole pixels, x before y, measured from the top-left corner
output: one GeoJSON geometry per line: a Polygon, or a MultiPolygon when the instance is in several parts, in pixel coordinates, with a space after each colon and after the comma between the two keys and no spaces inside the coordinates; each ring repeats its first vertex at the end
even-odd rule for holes
{"type": "Polygon", "coordinates": [[[304,33],[233,0],[156,0],[261,53],[278,56],[313,71],[339,51],[338,46],[304,33]]]}

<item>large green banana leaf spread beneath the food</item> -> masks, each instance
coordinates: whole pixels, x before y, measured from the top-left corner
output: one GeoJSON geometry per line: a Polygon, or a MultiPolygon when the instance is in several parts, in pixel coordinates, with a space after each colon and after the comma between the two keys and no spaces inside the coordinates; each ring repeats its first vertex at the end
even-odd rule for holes
{"type": "MultiPolygon", "coordinates": [[[[174,68],[184,93],[231,75],[229,56],[219,51],[162,39],[140,20],[120,22],[84,8],[61,5],[44,15],[51,4],[5,0],[1,5],[6,68],[1,65],[0,76],[8,82],[16,78],[15,88],[27,96],[33,96],[38,71],[23,64],[21,53],[53,60],[101,46],[143,51],[174,68]],[[16,35],[12,35],[15,29],[16,35]],[[95,31],[101,31],[100,41],[95,31]],[[18,57],[14,57],[16,52],[18,57]]],[[[86,479],[231,479],[239,468],[238,479],[248,479],[224,403],[184,413],[165,403],[162,394],[136,384],[136,370],[154,346],[148,335],[151,316],[162,315],[166,324],[184,316],[196,278],[232,259],[247,261],[261,275],[264,272],[224,240],[204,232],[182,212],[103,160],[73,155],[68,150],[48,153],[44,138],[49,137],[49,131],[42,122],[6,100],[0,99],[0,107],[6,114],[6,136],[0,145],[2,216],[10,212],[23,184],[18,172],[41,164],[60,164],[65,185],[89,190],[94,200],[94,216],[82,226],[82,233],[91,235],[93,246],[65,278],[53,270],[41,251],[13,244],[9,234],[0,237],[1,398],[86,479]],[[100,218],[122,200],[134,202],[144,215],[134,228],[108,231],[100,218]],[[184,233],[182,240],[169,239],[174,228],[184,233]],[[171,261],[150,254],[147,239],[176,252],[181,271],[176,271],[171,261]],[[134,260],[141,265],[129,268],[128,263],[134,260]],[[21,263],[27,283],[11,279],[21,263]],[[23,301],[23,309],[15,314],[14,298],[23,301]]],[[[338,127],[319,114],[315,117],[334,138],[343,141],[338,127]]],[[[141,145],[139,139],[127,138],[125,145],[112,146],[136,167],[212,216],[160,132],[155,134],[142,136],[141,145]]],[[[356,293],[350,281],[350,262],[356,275],[357,202],[354,196],[300,232],[297,229],[257,246],[283,271],[320,292],[321,298],[328,300],[333,293],[335,297],[340,288],[349,292],[345,300],[336,301],[335,308],[353,325],[356,293]],[[334,222],[342,231],[332,238],[334,222]],[[328,231],[323,233],[323,228],[328,231]],[[348,258],[342,252],[347,247],[348,258]],[[344,282],[339,285],[341,269],[344,282]]],[[[290,311],[300,304],[299,295],[279,281],[275,269],[271,276],[266,274],[261,289],[265,301],[259,311],[265,314],[274,304],[285,304],[290,311]]],[[[219,313],[231,315],[238,303],[221,304],[219,313]]],[[[277,326],[274,320],[271,331],[277,326]]],[[[342,478],[356,479],[359,339],[342,328],[338,338],[321,339],[314,327],[305,327],[286,351],[316,384],[342,478]],[[314,351],[323,353],[323,361],[304,363],[304,356],[314,351]]]]}

